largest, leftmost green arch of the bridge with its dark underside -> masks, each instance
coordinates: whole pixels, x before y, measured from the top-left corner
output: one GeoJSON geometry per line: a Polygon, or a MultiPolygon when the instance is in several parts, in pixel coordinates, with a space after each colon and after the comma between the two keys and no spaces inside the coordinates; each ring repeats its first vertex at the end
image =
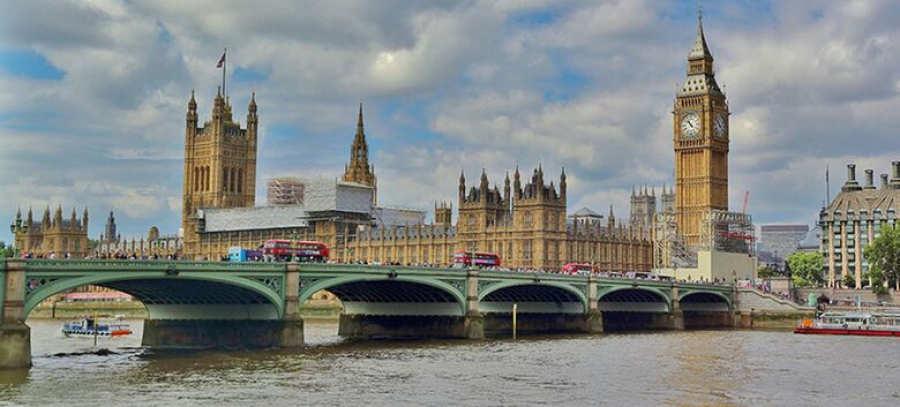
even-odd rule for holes
{"type": "Polygon", "coordinates": [[[283,287],[235,275],[183,273],[97,273],[54,278],[29,275],[41,282],[26,295],[23,316],[42,301],[77,287],[96,285],[122,291],[141,301],[151,319],[258,319],[284,315],[283,287]]]}

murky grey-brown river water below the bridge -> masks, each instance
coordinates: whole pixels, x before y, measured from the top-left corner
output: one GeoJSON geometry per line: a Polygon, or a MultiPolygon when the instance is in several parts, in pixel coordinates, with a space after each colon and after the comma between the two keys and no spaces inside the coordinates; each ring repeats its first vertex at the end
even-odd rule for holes
{"type": "Polygon", "coordinates": [[[345,342],[154,353],[135,335],[66,339],[29,321],[34,367],[0,372],[24,406],[897,406],[900,342],[787,331],[635,332],[486,341],[345,342]]]}

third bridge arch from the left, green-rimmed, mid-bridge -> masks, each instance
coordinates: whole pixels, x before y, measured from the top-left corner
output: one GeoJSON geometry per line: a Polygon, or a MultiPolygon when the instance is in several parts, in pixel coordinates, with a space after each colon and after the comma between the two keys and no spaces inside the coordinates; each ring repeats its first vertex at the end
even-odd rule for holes
{"type": "Polygon", "coordinates": [[[507,281],[495,283],[478,293],[483,313],[510,313],[516,303],[522,313],[583,314],[588,300],[575,287],[552,281],[507,281]]]}

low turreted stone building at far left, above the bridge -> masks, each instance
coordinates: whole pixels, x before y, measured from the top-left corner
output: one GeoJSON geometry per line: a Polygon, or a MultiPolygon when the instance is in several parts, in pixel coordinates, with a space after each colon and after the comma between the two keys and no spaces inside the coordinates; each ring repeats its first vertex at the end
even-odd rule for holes
{"type": "Polygon", "coordinates": [[[22,219],[22,212],[16,212],[16,219],[10,230],[13,232],[16,249],[22,254],[35,257],[74,258],[86,257],[90,251],[88,244],[88,211],[87,208],[78,219],[75,209],[68,219],[63,219],[62,207],[57,207],[53,216],[50,208],[44,210],[40,222],[34,220],[31,209],[22,219]]]}

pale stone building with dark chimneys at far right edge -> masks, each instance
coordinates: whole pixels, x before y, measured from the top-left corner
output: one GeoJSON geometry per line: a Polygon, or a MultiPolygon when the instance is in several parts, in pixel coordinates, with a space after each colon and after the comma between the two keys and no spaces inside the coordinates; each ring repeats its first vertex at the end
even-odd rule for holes
{"type": "Polygon", "coordinates": [[[875,186],[874,171],[866,170],[864,185],[856,180],[856,166],[847,165],[847,181],[841,192],[819,213],[822,228],[824,277],[829,287],[841,284],[844,276],[854,277],[856,288],[864,286],[869,263],[865,247],[878,237],[881,228],[897,226],[900,212],[900,161],[892,164],[893,175],[881,175],[875,186]]]}

